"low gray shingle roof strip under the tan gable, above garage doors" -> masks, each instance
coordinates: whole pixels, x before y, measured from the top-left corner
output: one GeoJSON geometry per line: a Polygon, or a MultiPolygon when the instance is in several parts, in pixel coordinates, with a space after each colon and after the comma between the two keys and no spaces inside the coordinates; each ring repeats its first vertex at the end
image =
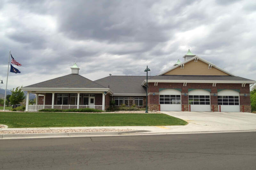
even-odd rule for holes
{"type": "Polygon", "coordinates": [[[238,76],[225,75],[156,75],[150,80],[226,80],[226,81],[253,81],[238,76]]]}

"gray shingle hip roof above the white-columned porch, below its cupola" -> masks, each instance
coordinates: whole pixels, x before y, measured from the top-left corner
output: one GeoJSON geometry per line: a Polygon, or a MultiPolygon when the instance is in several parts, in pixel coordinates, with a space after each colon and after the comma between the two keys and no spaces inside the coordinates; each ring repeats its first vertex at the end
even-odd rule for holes
{"type": "Polygon", "coordinates": [[[25,88],[107,88],[79,74],[68,74],[55,79],[26,86],[25,88]]]}

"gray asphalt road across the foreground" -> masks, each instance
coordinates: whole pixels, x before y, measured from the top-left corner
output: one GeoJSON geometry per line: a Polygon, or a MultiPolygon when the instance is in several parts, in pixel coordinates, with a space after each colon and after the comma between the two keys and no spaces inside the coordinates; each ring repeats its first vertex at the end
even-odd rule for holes
{"type": "Polygon", "coordinates": [[[256,132],[0,140],[0,169],[256,169],[256,132]]]}

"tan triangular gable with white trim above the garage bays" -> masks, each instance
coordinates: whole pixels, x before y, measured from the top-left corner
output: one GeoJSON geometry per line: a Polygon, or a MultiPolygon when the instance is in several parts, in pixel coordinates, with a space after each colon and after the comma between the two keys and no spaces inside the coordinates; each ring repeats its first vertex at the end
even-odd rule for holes
{"type": "Polygon", "coordinates": [[[169,70],[157,75],[231,75],[228,71],[217,67],[198,56],[186,60],[169,70]]]}

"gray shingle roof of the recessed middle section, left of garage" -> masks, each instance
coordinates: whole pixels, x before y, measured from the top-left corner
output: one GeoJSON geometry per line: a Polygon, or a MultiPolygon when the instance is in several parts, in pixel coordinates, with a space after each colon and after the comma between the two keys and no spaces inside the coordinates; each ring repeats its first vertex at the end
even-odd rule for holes
{"type": "Polygon", "coordinates": [[[141,86],[146,76],[108,76],[94,82],[106,86],[113,91],[114,94],[146,94],[145,87],[141,86]]]}

